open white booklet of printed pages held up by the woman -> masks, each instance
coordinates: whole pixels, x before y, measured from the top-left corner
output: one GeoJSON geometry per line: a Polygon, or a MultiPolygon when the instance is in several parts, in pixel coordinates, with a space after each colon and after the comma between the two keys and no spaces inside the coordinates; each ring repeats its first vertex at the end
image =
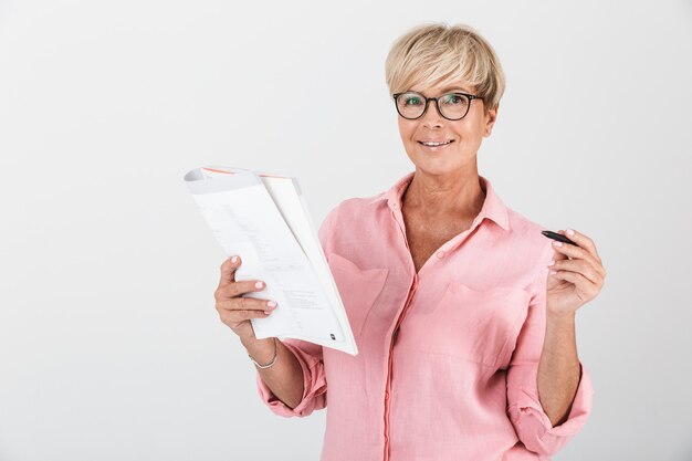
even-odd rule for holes
{"type": "Polygon", "coordinates": [[[261,280],[249,297],[271,300],[252,318],[258,339],[291,337],[357,355],[346,310],[295,178],[210,166],[185,175],[227,258],[240,255],[235,280],[261,280]]]}

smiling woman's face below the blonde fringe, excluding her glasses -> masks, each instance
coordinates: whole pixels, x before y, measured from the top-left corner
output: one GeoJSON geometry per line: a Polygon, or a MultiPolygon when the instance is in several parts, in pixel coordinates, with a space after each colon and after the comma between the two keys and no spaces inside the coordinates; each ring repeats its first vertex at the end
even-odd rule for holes
{"type": "MultiPolygon", "coordinates": [[[[475,88],[463,82],[444,83],[433,87],[409,88],[427,97],[439,97],[450,92],[475,94],[475,88]]],[[[483,101],[473,99],[466,115],[460,121],[448,121],[438,112],[433,101],[422,117],[409,121],[397,114],[399,134],[409,158],[417,170],[429,175],[444,175],[468,167],[476,168],[476,153],[483,137],[490,135],[497,108],[484,113],[483,101]],[[426,146],[426,142],[448,143],[426,146]]]]}

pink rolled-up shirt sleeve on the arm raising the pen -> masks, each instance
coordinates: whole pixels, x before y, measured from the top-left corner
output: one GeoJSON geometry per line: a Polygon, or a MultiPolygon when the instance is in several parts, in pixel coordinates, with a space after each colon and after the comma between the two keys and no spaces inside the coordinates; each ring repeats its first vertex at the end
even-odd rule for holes
{"type": "MultiPolygon", "coordinates": [[[[545,261],[552,255],[551,251],[545,261]]],[[[538,399],[538,363],[545,338],[546,283],[548,269],[534,282],[528,313],[517,337],[507,369],[507,416],[524,446],[538,454],[559,451],[586,423],[591,411],[594,388],[586,368],[579,363],[580,379],[568,418],[553,427],[538,399]]]]}

